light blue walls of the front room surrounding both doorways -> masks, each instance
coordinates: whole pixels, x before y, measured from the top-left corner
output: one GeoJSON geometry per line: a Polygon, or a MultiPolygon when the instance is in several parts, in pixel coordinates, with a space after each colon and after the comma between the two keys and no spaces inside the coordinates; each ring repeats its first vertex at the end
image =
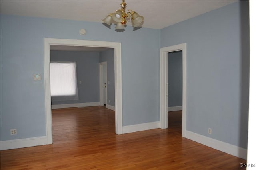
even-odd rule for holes
{"type": "Polygon", "coordinates": [[[123,126],[159,121],[159,47],[187,43],[187,130],[246,148],[248,18],[247,1],[161,30],[121,33],[101,23],[1,15],[1,141],[46,135],[43,38],[62,38],[122,43],[123,126]],[[18,135],[10,136],[13,128],[18,135]]]}

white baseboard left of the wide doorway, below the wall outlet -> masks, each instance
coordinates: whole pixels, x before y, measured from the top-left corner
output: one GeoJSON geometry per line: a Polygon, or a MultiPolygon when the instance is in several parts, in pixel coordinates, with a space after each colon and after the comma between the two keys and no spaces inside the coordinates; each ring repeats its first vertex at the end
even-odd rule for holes
{"type": "Polygon", "coordinates": [[[34,147],[39,145],[47,145],[47,137],[32,137],[25,139],[14,139],[8,141],[1,141],[1,150],[16,149],[24,147],[34,147]]]}

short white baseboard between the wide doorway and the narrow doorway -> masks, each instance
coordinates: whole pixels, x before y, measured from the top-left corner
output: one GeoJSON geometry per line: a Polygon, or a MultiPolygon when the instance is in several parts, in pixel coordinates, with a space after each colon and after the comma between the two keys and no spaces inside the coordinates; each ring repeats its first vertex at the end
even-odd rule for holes
{"type": "Polygon", "coordinates": [[[123,126],[123,133],[132,133],[156,128],[160,128],[160,121],[123,126]]]}

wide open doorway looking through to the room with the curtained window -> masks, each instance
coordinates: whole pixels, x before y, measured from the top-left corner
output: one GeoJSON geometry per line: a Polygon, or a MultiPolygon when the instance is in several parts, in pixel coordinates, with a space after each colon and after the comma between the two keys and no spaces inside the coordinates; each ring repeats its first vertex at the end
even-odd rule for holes
{"type": "Polygon", "coordinates": [[[107,96],[115,100],[113,48],[50,45],[50,88],[54,143],[87,138],[92,127],[114,133],[114,104],[106,109],[107,96]]]}

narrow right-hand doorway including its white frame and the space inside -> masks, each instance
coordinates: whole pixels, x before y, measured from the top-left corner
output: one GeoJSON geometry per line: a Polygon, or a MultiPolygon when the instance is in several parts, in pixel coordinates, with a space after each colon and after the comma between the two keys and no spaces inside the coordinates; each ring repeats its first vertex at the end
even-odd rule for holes
{"type": "Polygon", "coordinates": [[[179,123],[180,121],[182,122],[182,137],[185,137],[185,133],[186,133],[186,43],[173,45],[170,47],[164,47],[160,49],[160,127],[162,129],[166,129],[168,128],[168,125],[171,125],[172,123],[174,125],[175,123],[180,124],[179,123]],[[174,56],[174,58],[168,59],[168,55],[174,56]],[[182,56],[182,57],[176,58],[175,56],[182,56]],[[170,60],[171,63],[174,63],[176,60],[178,63],[181,63],[181,65],[179,66],[176,65],[171,67],[171,65],[168,64],[169,63],[168,60],[170,60]],[[169,73],[168,70],[171,72],[169,73]],[[173,74],[177,72],[179,73],[176,75],[173,74]],[[172,74],[170,75],[171,76],[170,78],[168,74],[172,74]],[[182,77],[178,78],[178,76],[181,76],[181,75],[182,77]],[[174,80],[175,77],[177,77],[178,79],[174,80]],[[168,94],[168,91],[170,91],[170,94],[168,94]],[[175,95],[178,95],[178,96],[175,96],[175,95]],[[171,111],[176,111],[176,112],[171,113],[171,111]]]}

